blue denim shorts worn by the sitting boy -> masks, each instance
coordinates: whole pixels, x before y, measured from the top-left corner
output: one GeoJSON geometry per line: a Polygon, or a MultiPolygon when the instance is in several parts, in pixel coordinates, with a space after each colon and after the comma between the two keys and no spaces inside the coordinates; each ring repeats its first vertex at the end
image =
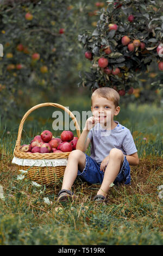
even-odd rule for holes
{"type": "MultiPolygon", "coordinates": [[[[84,153],[86,156],[86,163],[83,172],[78,170],[78,177],[84,181],[89,182],[90,184],[102,183],[104,178],[103,170],[100,170],[101,163],[97,163],[90,156],[84,153]]],[[[130,166],[129,162],[124,156],[124,161],[122,164],[122,168],[119,171],[116,179],[114,180],[114,184],[118,185],[120,183],[130,184],[130,166]]]]}

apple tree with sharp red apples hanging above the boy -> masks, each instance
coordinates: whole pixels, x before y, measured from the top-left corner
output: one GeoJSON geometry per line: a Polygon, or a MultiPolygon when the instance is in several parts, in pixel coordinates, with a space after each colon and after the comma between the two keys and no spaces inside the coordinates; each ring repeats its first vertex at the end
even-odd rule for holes
{"type": "Polygon", "coordinates": [[[94,31],[86,30],[84,34],[78,36],[84,48],[85,58],[90,62],[90,71],[80,72],[81,81],[78,86],[89,87],[92,92],[99,87],[112,87],[121,96],[125,95],[125,101],[128,94],[131,94],[132,99],[135,99],[133,94],[137,94],[139,98],[140,93],[146,94],[141,80],[145,75],[151,74],[151,64],[154,63],[158,76],[148,77],[151,81],[148,89],[150,92],[161,89],[163,84],[161,1],[109,0],[106,2],[108,7],[98,11],[98,22],[94,31]]]}

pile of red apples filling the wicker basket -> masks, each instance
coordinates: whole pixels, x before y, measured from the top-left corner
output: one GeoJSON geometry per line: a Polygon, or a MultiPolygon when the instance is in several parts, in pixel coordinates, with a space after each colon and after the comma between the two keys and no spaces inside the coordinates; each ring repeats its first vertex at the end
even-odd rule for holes
{"type": "Polygon", "coordinates": [[[62,131],[60,138],[55,138],[51,131],[45,130],[30,142],[21,146],[26,153],[62,153],[76,149],[78,137],[71,131],[62,131]]]}

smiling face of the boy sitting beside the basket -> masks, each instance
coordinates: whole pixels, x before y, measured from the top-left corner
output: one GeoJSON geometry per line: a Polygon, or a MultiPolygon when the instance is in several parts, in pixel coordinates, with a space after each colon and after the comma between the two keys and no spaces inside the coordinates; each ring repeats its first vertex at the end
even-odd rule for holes
{"type": "Polygon", "coordinates": [[[120,112],[120,107],[115,107],[114,102],[104,97],[95,97],[92,101],[91,111],[93,117],[96,117],[99,123],[107,125],[112,123],[114,115],[120,112]]]}

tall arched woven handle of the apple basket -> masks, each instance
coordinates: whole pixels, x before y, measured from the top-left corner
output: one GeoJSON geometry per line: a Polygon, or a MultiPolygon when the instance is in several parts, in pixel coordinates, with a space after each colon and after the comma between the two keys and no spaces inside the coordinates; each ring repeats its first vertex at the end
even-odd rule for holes
{"type": "Polygon", "coordinates": [[[36,106],[30,108],[30,109],[26,112],[26,114],[24,114],[24,116],[23,116],[23,118],[22,118],[22,120],[21,120],[20,126],[18,127],[18,134],[17,134],[17,141],[16,141],[16,145],[15,145],[15,150],[20,150],[23,125],[24,125],[24,121],[27,119],[28,115],[29,115],[31,112],[33,112],[35,109],[37,109],[37,108],[40,108],[40,107],[47,107],[47,106],[58,107],[58,108],[63,109],[64,111],[66,111],[66,112],[70,115],[70,117],[72,118],[72,120],[73,120],[73,122],[74,122],[74,126],[76,126],[78,138],[80,137],[80,128],[79,128],[77,119],[76,119],[76,117],[74,117],[74,115],[72,114],[72,112],[71,112],[68,108],[66,108],[66,107],[64,107],[64,106],[62,106],[62,105],[60,105],[60,104],[58,104],[58,103],[51,103],[51,102],[41,103],[41,104],[38,104],[38,105],[36,105],[36,106]]]}

